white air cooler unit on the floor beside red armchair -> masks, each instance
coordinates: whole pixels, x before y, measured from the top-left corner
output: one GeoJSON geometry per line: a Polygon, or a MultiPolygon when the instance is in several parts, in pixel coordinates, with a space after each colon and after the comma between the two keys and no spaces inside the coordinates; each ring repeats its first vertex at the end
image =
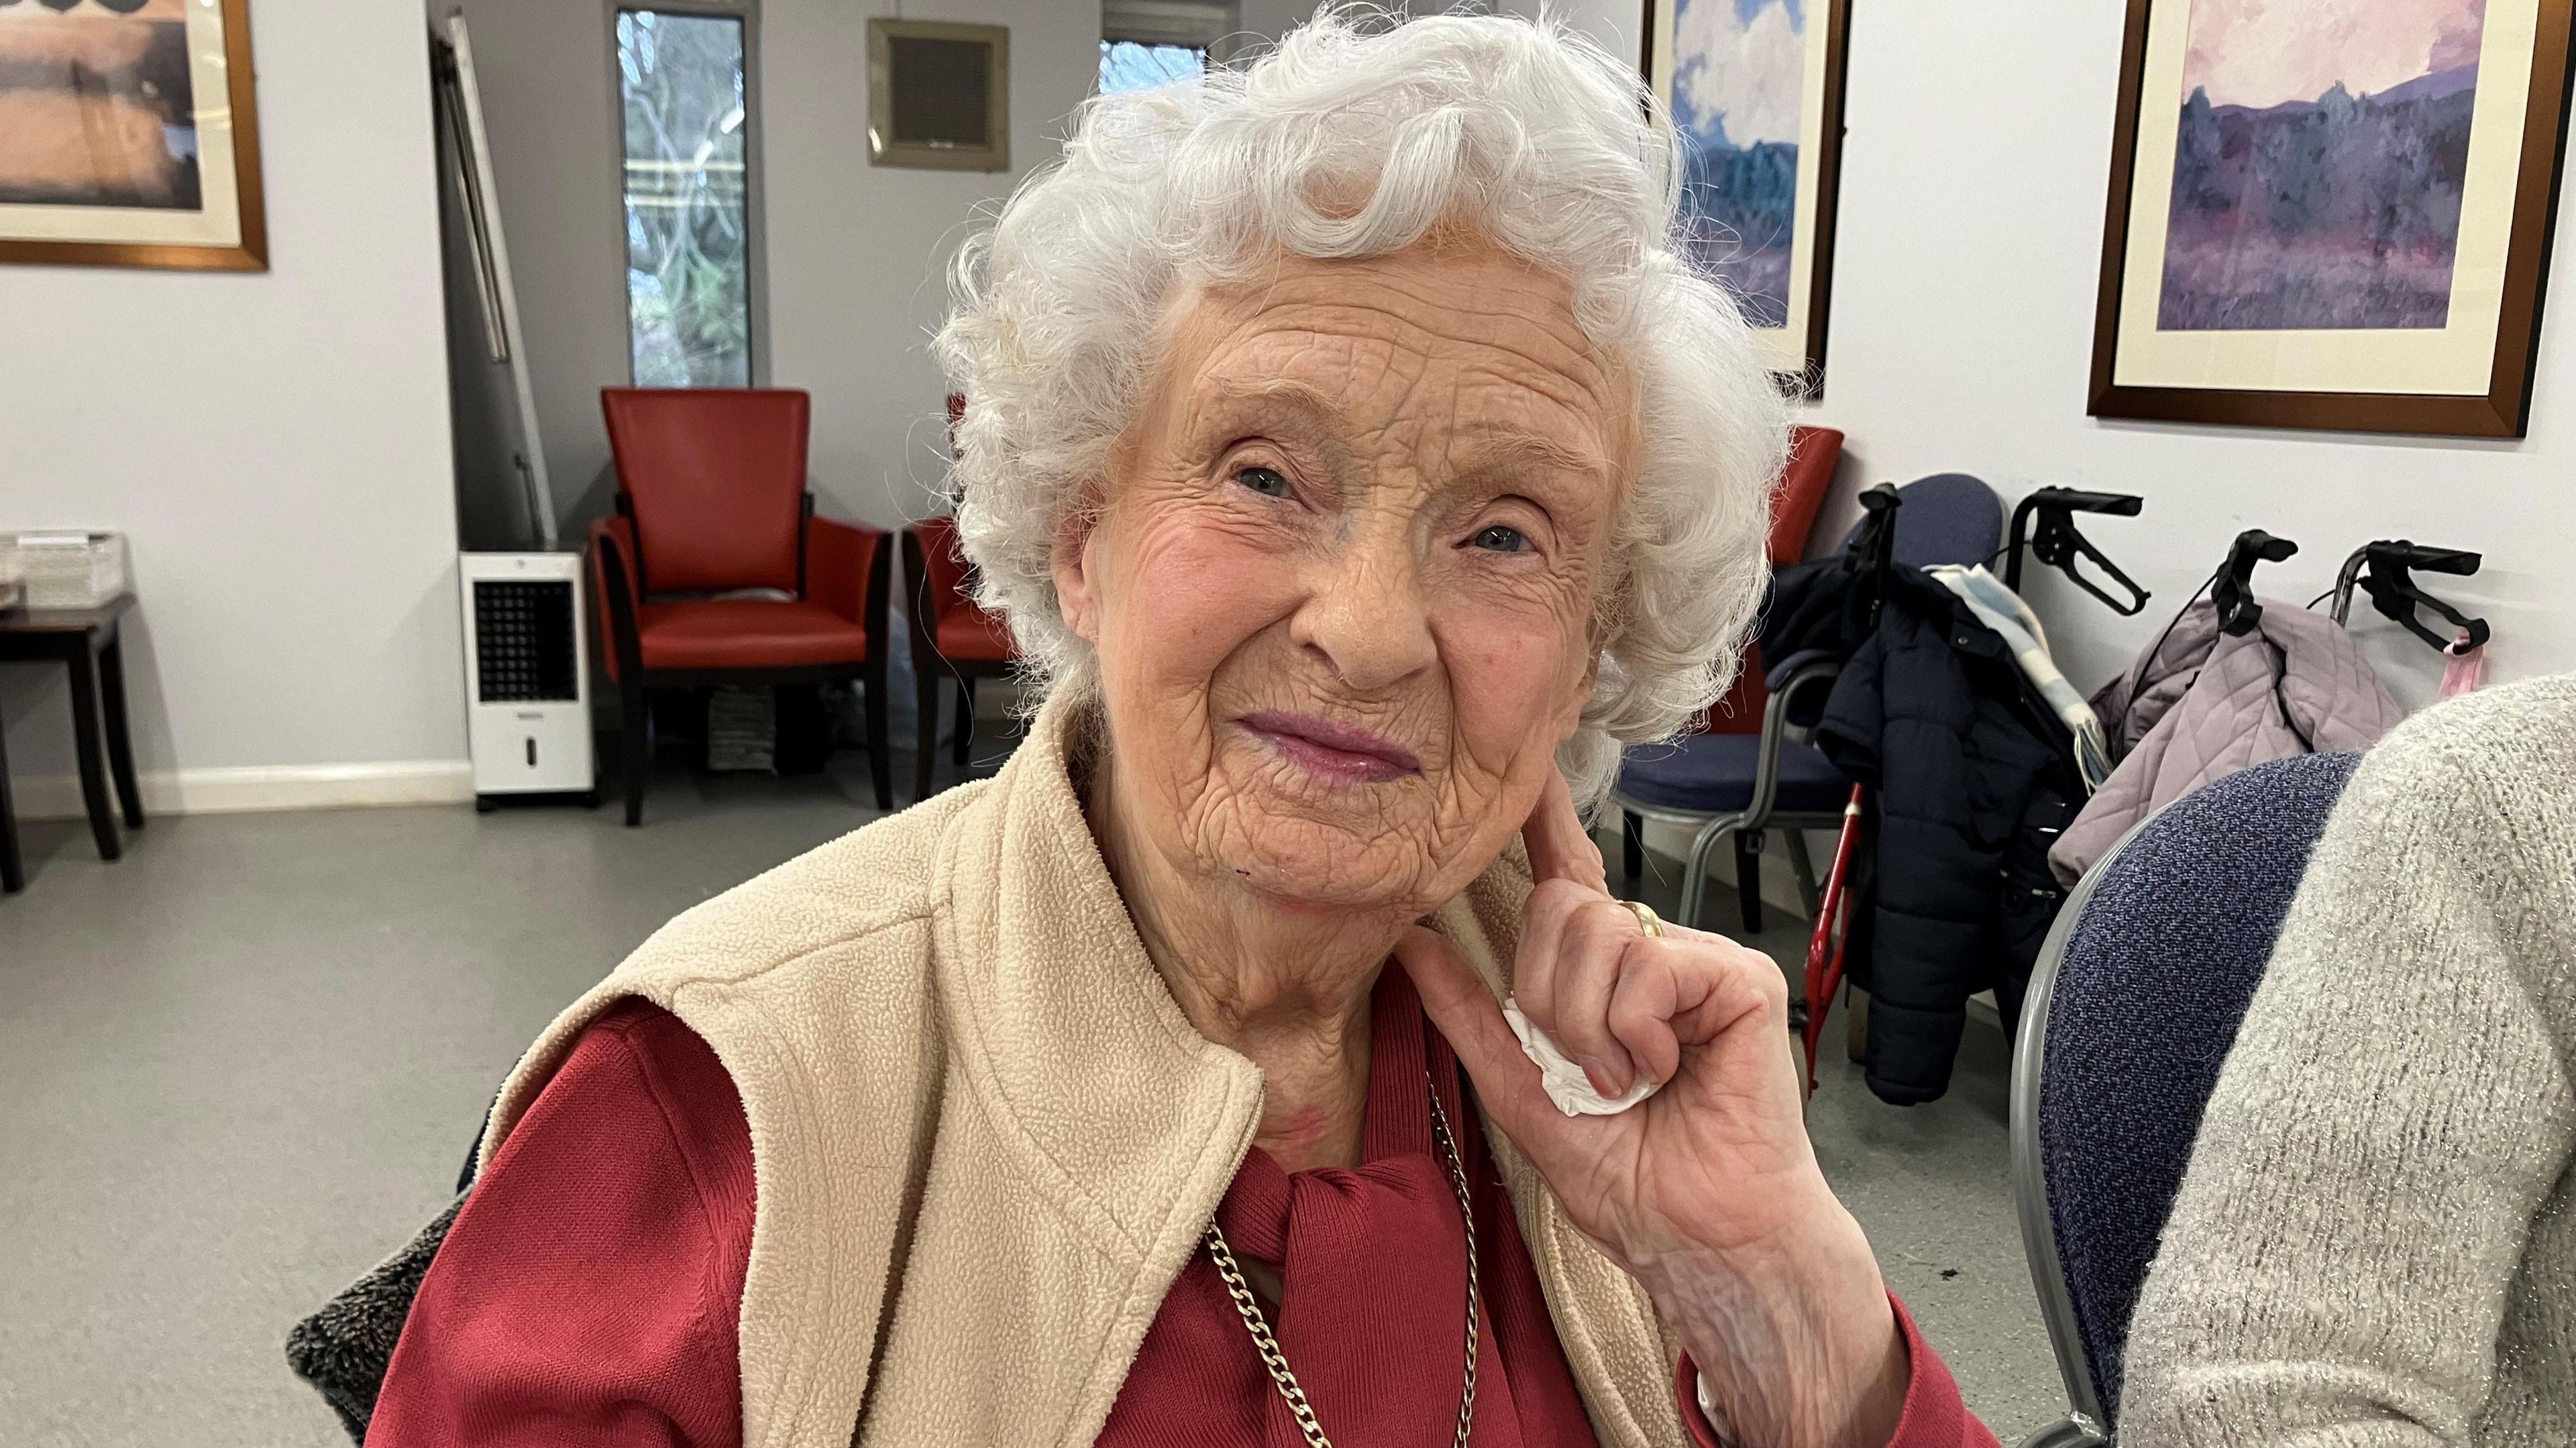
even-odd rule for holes
{"type": "Polygon", "coordinates": [[[590,794],[582,554],[459,554],[474,799],[590,794]]]}

